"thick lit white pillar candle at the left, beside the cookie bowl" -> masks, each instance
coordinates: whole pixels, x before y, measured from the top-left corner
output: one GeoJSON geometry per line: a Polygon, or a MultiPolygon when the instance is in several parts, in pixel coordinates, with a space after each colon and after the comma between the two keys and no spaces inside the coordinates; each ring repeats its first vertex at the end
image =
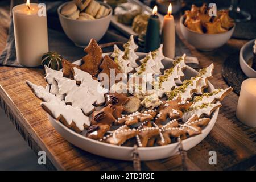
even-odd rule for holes
{"type": "Polygon", "coordinates": [[[27,2],[13,7],[16,58],[21,65],[35,67],[48,52],[47,19],[39,16],[38,4],[27,2]]]}

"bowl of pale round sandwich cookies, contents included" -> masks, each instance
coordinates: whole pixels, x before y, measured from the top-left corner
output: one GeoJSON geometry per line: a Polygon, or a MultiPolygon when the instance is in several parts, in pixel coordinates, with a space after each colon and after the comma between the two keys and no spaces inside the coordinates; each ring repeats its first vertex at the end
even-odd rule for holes
{"type": "Polygon", "coordinates": [[[66,2],[57,11],[65,34],[79,47],[88,45],[90,38],[100,40],[112,15],[112,7],[94,0],[66,2]]]}

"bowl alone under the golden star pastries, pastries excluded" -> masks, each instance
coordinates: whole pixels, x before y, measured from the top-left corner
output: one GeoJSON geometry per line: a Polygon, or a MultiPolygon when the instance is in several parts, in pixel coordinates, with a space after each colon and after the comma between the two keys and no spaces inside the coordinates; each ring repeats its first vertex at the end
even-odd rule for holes
{"type": "Polygon", "coordinates": [[[231,38],[236,27],[234,26],[229,31],[220,34],[203,34],[189,30],[189,28],[184,26],[183,19],[184,16],[181,16],[180,30],[182,35],[188,41],[188,43],[192,44],[192,46],[201,51],[212,51],[213,49],[223,46],[231,38]]]}

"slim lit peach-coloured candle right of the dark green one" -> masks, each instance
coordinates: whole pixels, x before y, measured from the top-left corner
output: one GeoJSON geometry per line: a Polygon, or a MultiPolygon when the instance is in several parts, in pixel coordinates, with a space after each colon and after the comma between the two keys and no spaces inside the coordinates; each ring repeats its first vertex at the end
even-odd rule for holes
{"type": "Polygon", "coordinates": [[[169,58],[175,57],[175,23],[172,13],[172,5],[168,7],[168,14],[164,16],[162,29],[162,43],[164,56],[169,58]]]}

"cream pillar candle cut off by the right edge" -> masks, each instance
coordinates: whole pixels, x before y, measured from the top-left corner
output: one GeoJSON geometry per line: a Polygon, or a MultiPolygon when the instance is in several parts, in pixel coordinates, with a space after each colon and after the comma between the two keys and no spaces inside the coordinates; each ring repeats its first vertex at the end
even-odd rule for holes
{"type": "Polygon", "coordinates": [[[256,127],[256,78],[249,78],[242,82],[237,119],[245,125],[256,127]]]}

